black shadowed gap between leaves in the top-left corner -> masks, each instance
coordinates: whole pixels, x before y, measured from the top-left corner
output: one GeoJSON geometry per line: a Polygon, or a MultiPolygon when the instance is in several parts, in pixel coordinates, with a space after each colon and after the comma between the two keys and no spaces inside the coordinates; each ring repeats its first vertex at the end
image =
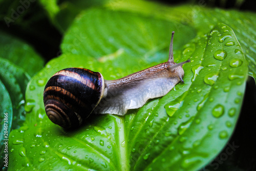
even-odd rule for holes
{"type": "Polygon", "coordinates": [[[39,1],[0,2],[0,30],[24,40],[46,60],[56,57],[61,34],[39,1]]]}

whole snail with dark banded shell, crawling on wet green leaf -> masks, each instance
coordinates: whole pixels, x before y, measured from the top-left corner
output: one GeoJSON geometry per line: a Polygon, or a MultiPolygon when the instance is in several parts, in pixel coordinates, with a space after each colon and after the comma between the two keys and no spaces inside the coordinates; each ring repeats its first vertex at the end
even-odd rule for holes
{"type": "Polygon", "coordinates": [[[54,74],[44,90],[49,119],[63,128],[77,128],[91,114],[124,115],[142,107],[147,100],[167,94],[180,81],[182,65],[173,57],[173,38],[167,62],[135,72],[117,80],[104,80],[99,72],[66,68],[54,74]]]}

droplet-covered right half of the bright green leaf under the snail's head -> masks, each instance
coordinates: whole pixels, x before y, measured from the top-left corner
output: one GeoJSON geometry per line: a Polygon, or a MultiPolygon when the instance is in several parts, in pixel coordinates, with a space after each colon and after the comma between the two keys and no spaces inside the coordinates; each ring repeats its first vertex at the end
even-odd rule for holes
{"type": "Polygon", "coordinates": [[[241,51],[239,42],[223,24],[184,46],[183,59],[191,56],[191,63],[183,67],[184,84],[159,101],[145,124],[131,125],[135,170],[197,170],[222,150],[236,125],[245,89],[247,66],[236,50],[241,51]],[[224,26],[231,37],[220,43],[224,26]],[[236,45],[225,46],[227,41],[236,45]],[[217,60],[221,51],[227,56],[217,60]],[[234,60],[241,65],[234,67],[234,60]]]}

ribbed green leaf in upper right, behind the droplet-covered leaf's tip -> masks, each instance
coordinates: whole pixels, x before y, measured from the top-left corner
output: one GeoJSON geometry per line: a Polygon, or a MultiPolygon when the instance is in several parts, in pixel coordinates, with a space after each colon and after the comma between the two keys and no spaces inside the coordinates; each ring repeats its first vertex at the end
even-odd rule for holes
{"type": "MultiPolygon", "coordinates": [[[[236,34],[249,67],[249,76],[256,81],[256,14],[251,12],[224,11],[221,9],[196,13],[194,25],[202,33],[212,29],[217,22],[226,23],[236,34]]],[[[226,37],[223,37],[225,39],[226,37]]]]}

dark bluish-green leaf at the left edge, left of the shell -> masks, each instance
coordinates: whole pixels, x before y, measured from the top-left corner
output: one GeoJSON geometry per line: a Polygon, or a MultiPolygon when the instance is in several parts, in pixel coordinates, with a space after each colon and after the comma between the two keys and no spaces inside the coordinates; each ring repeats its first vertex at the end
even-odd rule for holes
{"type": "MultiPolygon", "coordinates": [[[[12,129],[17,129],[25,120],[24,104],[25,90],[30,77],[22,68],[14,65],[6,59],[0,58],[0,105],[1,105],[1,168],[5,164],[3,155],[5,144],[12,129]],[[8,113],[8,120],[5,123],[5,113],[8,113]],[[6,130],[7,124],[7,130],[6,130]],[[8,134],[5,134],[8,131],[8,134]]],[[[9,149],[10,150],[10,149],[9,149]]]]}

